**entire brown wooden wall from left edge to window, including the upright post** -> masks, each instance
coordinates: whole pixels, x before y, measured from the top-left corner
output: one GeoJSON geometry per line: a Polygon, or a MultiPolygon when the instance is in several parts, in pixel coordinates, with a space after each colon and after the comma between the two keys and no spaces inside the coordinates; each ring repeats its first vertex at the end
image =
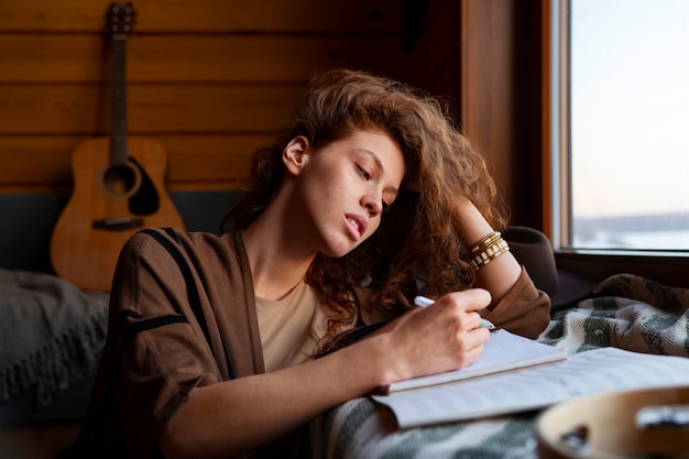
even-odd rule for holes
{"type": "MultiPolygon", "coordinates": [[[[109,133],[106,0],[0,2],[0,193],[66,192],[109,133]]],[[[171,190],[231,189],[309,77],[385,74],[446,96],[512,223],[542,217],[537,0],[138,0],[130,135],[160,140],[171,190]]]]}

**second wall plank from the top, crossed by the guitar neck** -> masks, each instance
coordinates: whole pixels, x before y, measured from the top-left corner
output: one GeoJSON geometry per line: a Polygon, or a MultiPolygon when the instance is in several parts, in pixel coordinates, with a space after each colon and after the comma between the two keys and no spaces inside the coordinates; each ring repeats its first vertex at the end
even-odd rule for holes
{"type": "MultiPolygon", "coordinates": [[[[0,81],[107,83],[108,40],[99,35],[0,34],[0,81]]],[[[403,61],[398,36],[131,36],[127,76],[141,81],[298,81],[342,66],[392,73],[403,61]],[[372,47],[371,54],[362,51],[372,47]],[[375,48],[384,50],[386,58],[375,48]]]]}

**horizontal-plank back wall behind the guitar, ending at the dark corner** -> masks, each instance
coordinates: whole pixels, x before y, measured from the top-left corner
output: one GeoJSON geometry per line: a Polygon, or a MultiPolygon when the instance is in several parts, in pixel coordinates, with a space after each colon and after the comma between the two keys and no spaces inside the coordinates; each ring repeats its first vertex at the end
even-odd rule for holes
{"type": "MultiPolygon", "coordinates": [[[[109,133],[105,0],[0,2],[0,193],[67,190],[109,133]]],[[[138,0],[130,135],[160,140],[171,190],[229,189],[316,70],[405,78],[400,0],[138,0]]]]}

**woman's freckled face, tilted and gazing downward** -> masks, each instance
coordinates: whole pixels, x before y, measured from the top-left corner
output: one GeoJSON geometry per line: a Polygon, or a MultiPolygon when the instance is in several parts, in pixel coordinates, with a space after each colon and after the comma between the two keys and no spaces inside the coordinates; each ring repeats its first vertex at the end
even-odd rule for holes
{"type": "Polygon", "coordinates": [[[318,151],[306,145],[296,182],[299,231],[329,256],[342,256],[380,226],[404,178],[402,151],[382,131],[356,131],[318,151]]]}

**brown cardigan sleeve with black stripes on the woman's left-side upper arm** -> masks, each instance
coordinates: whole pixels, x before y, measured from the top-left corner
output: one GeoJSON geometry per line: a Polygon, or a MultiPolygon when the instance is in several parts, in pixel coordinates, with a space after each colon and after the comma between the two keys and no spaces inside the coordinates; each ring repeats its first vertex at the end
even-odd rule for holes
{"type": "Polygon", "coordinates": [[[132,457],[154,451],[193,387],[220,379],[188,303],[183,274],[165,248],[145,234],[132,238],[114,275],[107,348],[111,387],[132,457]]]}

